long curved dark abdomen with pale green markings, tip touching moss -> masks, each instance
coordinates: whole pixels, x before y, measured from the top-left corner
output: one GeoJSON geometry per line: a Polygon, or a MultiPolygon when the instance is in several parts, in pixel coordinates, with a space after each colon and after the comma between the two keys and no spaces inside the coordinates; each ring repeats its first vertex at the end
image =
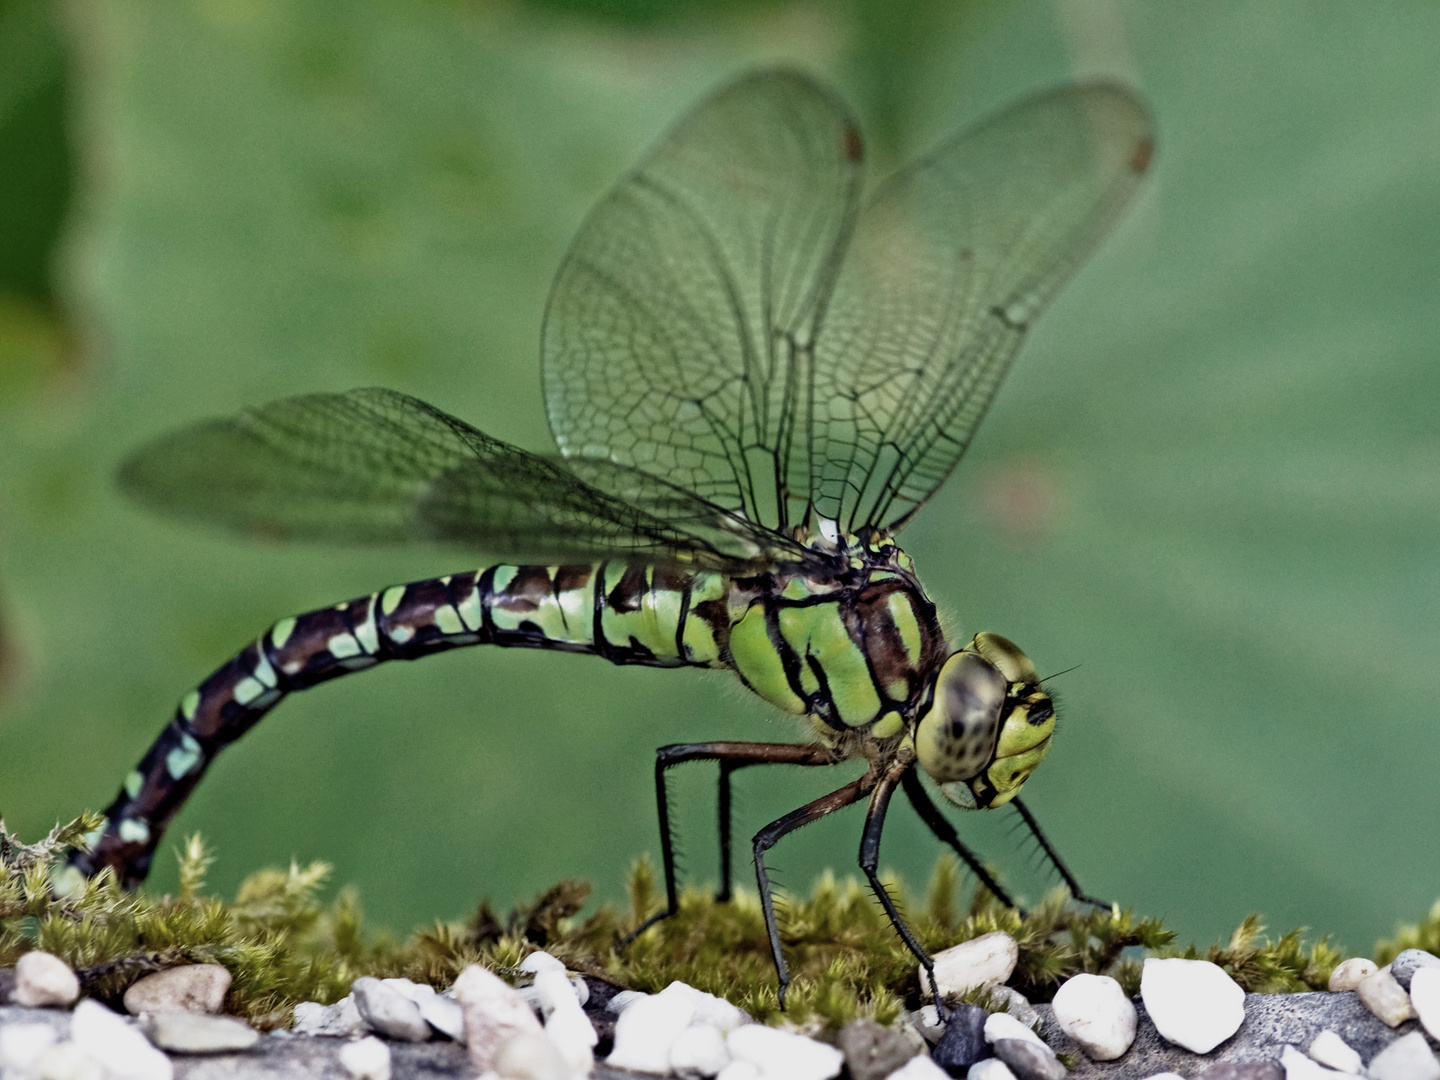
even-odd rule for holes
{"type": "Polygon", "coordinates": [[[215,756],[285,694],[387,660],[465,645],[592,652],[615,664],[724,667],[729,579],[628,563],[491,566],[281,619],[186,694],[125,778],[82,873],[144,878],[215,756]]]}

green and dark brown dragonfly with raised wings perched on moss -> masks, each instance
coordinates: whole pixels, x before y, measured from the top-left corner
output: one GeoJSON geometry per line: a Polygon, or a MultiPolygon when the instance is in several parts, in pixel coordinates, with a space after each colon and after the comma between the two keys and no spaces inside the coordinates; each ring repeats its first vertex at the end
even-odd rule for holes
{"type": "Polygon", "coordinates": [[[756,71],[683,117],[566,253],[541,333],[554,452],[386,389],[289,397],[140,448],[120,484],[161,513],[511,562],[276,622],[180,700],[68,873],[143,881],[216,755],[287,694],[500,645],[721,668],[799,719],[795,743],[657,752],[667,903],[654,919],[678,909],[670,768],[719,766],[727,899],[736,770],[864,765],[752,841],[782,1005],[765,857],[818,818],[867,804],[860,868],[932,985],[877,876],[893,795],[1012,903],[922,775],[953,806],[1012,804],[1087,899],[1017,799],[1056,726],[1035,665],[998,634],[952,644],[896,536],[963,455],[1038,311],[1135,197],[1153,145],[1129,89],[1074,82],[865,193],[844,102],[802,72],[756,71]]]}

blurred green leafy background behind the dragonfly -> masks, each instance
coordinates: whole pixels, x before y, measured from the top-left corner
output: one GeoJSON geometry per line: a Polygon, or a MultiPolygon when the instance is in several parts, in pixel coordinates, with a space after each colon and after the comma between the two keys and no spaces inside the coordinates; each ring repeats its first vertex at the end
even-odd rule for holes
{"type": "MultiPolygon", "coordinates": [[[[958,632],[1080,665],[1027,796],[1089,890],[1185,939],[1260,910],[1367,950],[1440,896],[1436,56],[1430,0],[4,0],[7,824],[107,805],[274,619],[478,560],[154,520],[114,491],[127,448],[384,384],[546,449],[550,275],[713,85],[822,73],[883,171],[1107,73],[1156,112],[1152,181],[904,541],[958,632]]],[[[616,897],[657,851],[655,746],[789,736],[719,675],[452,652],[287,701],[171,841],[203,831],[226,890],[330,860],[400,930],[564,876],[616,897]]],[[[838,772],[742,773],[737,835],[838,772]]],[[[701,880],[711,783],[674,783],[701,880]]],[[[1012,824],[960,821],[1034,896],[1012,824]]],[[[786,840],[779,880],[848,871],[858,829],[851,811],[786,840]]],[[[922,884],[936,845],[907,808],[886,841],[922,884]]]]}

